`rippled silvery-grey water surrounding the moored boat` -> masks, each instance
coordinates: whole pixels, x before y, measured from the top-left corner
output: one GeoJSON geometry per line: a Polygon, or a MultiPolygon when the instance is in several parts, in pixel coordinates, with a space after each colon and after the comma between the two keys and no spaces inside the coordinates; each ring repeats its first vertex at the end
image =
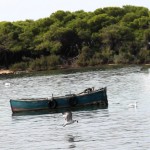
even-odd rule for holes
{"type": "Polygon", "coordinates": [[[150,70],[128,67],[0,80],[0,150],[150,149],[150,70]],[[61,113],[12,115],[9,99],[51,97],[107,86],[108,109],[73,111],[79,123],[62,127],[61,113]],[[138,102],[137,109],[128,104],[138,102]]]}

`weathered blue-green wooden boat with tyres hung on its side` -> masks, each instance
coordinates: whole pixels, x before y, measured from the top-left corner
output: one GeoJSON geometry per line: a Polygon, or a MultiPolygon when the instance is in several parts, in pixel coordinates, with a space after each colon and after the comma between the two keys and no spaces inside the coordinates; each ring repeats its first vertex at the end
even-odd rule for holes
{"type": "Polygon", "coordinates": [[[10,99],[11,110],[13,113],[37,110],[57,110],[62,108],[84,107],[89,105],[100,105],[108,107],[107,88],[87,88],[78,94],[68,94],[65,96],[51,98],[23,98],[10,99]]]}

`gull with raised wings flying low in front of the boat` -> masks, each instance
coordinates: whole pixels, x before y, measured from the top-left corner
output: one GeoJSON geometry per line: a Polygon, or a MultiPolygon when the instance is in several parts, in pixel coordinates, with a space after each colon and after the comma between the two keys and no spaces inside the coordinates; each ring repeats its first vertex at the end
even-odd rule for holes
{"type": "Polygon", "coordinates": [[[65,123],[63,124],[63,127],[65,127],[66,125],[72,124],[74,122],[78,123],[78,120],[73,120],[72,119],[72,112],[71,111],[67,111],[65,113],[63,113],[63,117],[65,117],[65,123]]]}

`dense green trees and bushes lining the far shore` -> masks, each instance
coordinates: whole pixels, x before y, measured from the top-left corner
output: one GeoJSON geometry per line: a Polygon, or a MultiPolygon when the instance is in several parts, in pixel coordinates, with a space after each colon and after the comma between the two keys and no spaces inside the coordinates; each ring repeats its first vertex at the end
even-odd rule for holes
{"type": "Polygon", "coordinates": [[[57,11],[47,18],[0,22],[0,67],[150,63],[150,11],[123,6],[94,12],[57,11]]]}

